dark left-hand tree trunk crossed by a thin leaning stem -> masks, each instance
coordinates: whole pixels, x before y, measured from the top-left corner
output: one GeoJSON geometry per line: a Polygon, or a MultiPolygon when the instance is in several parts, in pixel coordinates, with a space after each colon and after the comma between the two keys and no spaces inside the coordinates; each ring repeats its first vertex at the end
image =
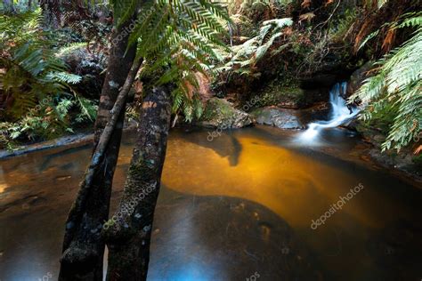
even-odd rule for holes
{"type": "MultiPolygon", "coordinates": [[[[99,145],[101,132],[110,119],[110,109],[113,108],[118,92],[134,62],[135,46],[126,49],[128,38],[121,36],[129,23],[128,21],[121,27],[115,28],[111,36],[113,44],[110,49],[109,66],[95,122],[94,151],[99,145]]],[[[81,183],[77,199],[70,210],[66,221],[59,280],[102,280],[105,244],[101,237],[101,229],[109,217],[111,184],[118,161],[124,119],[125,110],[122,110],[111,132],[110,140],[101,154],[101,161],[94,167],[91,181],[89,184],[86,184],[86,181],[81,183]]]]}

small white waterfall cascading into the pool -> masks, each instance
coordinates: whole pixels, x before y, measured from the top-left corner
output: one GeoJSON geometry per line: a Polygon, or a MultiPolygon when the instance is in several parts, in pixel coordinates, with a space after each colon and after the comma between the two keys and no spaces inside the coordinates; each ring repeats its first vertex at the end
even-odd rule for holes
{"type": "Polygon", "coordinates": [[[347,107],[346,101],[342,97],[342,93],[345,93],[346,88],[346,82],[334,85],[329,92],[329,103],[331,104],[329,121],[317,121],[308,124],[306,131],[300,134],[299,141],[313,141],[321,130],[345,124],[359,113],[358,108],[352,106],[347,107]]]}

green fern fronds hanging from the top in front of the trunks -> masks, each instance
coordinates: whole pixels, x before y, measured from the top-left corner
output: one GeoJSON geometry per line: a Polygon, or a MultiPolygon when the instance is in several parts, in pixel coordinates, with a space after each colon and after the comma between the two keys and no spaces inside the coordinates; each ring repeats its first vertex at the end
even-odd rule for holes
{"type": "MultiPolygon", "coordinates": [[[[113,1],[118,22],[129,19],[136,1],[113,1]]],[[[146,63],[141,79],[153,84],[174,84],[174,112],[182,111],[188,121],[199,117],[202,109],[196,73],[212,74],[212,65],[221,60],[226,34],[225,8],[205,0],[155,1],[142,6],[129,44],[138,44],[138,57],[146,63]],[[165,71],[163,70],[165,69],[165,71]]]]}

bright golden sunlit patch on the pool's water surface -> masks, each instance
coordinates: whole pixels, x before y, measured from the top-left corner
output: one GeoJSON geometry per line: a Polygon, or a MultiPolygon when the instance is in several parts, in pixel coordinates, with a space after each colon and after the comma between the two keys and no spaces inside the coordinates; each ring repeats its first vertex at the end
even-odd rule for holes
{"type": "MultiPolygon", "coordinates": [[[[239,161],[230,165],[228,158],[214,149],[181,139],[170,140],[164,184],[198,196],[248,199],[267,206],[292,226],[308,228],[312,219],[327,212],[338,197],[344,197],[360,183],[342,167],[324,164],[264,139],[247,135],[239,136],[237,141],[241,146],[239,161]]],[[[343,207],[343,215],[369,227],[384,224],[384,220],[366,210],[373,209],[368,202],[379,200],[380,195],[370,189],[361,192],[364,195],[357,194],[343,207]]]]}

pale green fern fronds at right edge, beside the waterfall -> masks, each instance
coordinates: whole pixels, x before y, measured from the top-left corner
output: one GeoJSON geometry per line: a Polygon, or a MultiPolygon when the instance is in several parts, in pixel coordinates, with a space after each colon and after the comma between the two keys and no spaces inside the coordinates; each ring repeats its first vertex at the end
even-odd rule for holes
{"type": "Polygon", "coordinates": [[[377,61],[377,74],[369,77],[351,100],[361,99],[366,105],[361,118],[369,120],[382,108],[394,108],[394,121],[382,146],[400,150],[416,139],[422,130],[422,27],[417,19],[403,20],[397,28],[417,26],[413,36],[402,46],[377,61]]]}

